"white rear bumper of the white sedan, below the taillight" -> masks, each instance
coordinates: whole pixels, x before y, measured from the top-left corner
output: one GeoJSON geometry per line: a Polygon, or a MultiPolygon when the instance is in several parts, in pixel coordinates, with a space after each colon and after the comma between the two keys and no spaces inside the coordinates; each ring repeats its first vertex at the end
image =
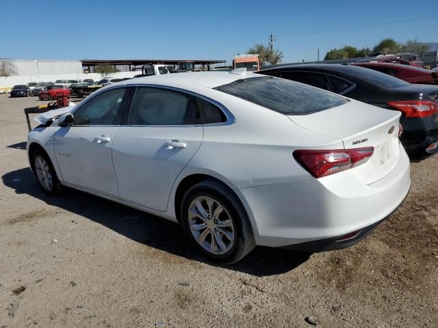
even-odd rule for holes
{"type": "Polygon", "coordinates": [[[350,169],[320,179],[239,189],[257,245],[292,248],[308,243],[328,250],[365,238],[409,192],[409,158],[399,147],[396,167],[372,184],[350,169]],[[332,245],[339,236],[357,231],[352,240],[332,245]]]}

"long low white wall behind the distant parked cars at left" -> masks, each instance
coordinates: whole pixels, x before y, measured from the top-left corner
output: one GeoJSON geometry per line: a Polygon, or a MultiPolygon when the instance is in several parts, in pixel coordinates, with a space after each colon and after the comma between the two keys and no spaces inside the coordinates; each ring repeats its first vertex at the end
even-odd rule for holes
{"type": "MultiPolygon", "coordinates": [[[[112,73],[109,77],[114,77],[114,79],[123,79],[124,77],[133,77],[136,74],[141,74],[141,72],[117,72],[112,73]]],[[[93,79],[94,81],[99,81],[103,78],[103,75],[99,73],[73,73],[73,74],[49,74],[49,75],[16,75],[13,77],[0,77],[0,88],[2,87],[13,87],[18,84],[27,84],[29,82],[55,82],[56,80],[68,79],[68,80],[83,80],[83,79],[93,79]]]]}

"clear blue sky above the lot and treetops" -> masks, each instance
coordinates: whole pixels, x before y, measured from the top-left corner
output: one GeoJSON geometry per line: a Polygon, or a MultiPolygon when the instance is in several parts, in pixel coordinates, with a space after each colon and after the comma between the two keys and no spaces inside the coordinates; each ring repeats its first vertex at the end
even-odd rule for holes
{"type": "Polygon", "coordinates": [[[255,43],[283,62],[382,38],[438,42],[438,2],[15,1],[0,3],[0,57],[227,59],[255,43]]]}

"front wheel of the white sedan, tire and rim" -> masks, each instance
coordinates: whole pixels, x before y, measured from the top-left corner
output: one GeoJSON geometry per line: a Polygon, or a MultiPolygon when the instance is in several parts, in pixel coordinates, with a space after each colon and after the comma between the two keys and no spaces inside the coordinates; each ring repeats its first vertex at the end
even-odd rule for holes
{"type": "Polygon", "coordinates": [[[42,190],[49,195],[57,195],[61,191],[60,181],[57,179],[55,169],[47,156],[42,150],[36,150],[32,154],[31,163],[33,163],[34,174],[42,190]]]}

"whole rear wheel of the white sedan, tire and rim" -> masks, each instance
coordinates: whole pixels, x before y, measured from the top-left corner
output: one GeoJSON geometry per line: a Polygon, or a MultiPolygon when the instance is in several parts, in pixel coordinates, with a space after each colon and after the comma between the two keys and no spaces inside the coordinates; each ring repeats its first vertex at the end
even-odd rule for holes
{"type": "Polygon", "coordinates": [[[231,264],[255,247],[248,215],[237,196],[215,180],[190,188],[181,206],[188,238],[210,260],[231,264]]]}

